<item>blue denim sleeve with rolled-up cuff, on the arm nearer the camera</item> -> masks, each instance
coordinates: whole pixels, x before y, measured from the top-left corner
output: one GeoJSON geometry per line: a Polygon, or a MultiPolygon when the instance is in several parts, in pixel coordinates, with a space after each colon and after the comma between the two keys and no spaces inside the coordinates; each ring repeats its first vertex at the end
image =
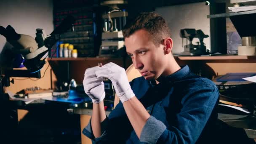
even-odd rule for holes
{"type": "Polygon", "coordinates": [[[181,101],[183,107],[176,115],[177,123],[170,123],[166,128],[163,122],[150,116],[141,131],[140,143],[195,144],[218,99],[219,91],[214,86],[189,89],[181,101]]]}

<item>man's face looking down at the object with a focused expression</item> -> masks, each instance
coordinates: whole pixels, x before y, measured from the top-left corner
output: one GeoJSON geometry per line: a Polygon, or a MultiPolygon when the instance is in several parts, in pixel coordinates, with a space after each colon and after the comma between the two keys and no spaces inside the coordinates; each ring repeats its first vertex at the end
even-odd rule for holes
{"type": "Polygon", "coordinates": [[[156,80],[167,66],[167,56],[164,53],[164,45],[156,46],[149,35],[144,29],[138,30],[125,38],[125,46],[134,67],[141,75],[146,80],[156,80]]]}

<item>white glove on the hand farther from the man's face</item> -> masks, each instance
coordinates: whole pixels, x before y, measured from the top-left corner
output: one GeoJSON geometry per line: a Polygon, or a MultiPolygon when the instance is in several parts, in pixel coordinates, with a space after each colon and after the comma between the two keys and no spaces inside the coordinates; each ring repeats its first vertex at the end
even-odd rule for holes
{"type": "Polygon", "coordinates": [[[103,78],[97,78],[95,75],[98,69],[100,69],[99,66],[86,69],[83,79],[85,93],[92,99],[92,102],[96,104],[103,101],[105,98],[103,78]]]}

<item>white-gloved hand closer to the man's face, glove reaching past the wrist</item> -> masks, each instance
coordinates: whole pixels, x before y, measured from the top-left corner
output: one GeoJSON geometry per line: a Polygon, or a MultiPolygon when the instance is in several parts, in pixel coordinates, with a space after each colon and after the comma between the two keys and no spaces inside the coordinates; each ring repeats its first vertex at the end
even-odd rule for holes
{"type": "Polygon", "coordinates": [[[98,78],[106,77],[111,80],[120,101],[125,102],[135,96],[123,67],[110,62],[98,69],[95,74],[98,78]]]}

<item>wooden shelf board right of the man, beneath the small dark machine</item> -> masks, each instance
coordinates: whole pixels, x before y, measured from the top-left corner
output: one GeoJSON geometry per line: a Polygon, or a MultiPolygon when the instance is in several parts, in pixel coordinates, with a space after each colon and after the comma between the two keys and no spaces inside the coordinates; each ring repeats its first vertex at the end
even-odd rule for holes
{"type": "Polygon", "coordinates": [[[246,60],[256,59],[256,56],[176,56],[179,60],[246,60]]]}

